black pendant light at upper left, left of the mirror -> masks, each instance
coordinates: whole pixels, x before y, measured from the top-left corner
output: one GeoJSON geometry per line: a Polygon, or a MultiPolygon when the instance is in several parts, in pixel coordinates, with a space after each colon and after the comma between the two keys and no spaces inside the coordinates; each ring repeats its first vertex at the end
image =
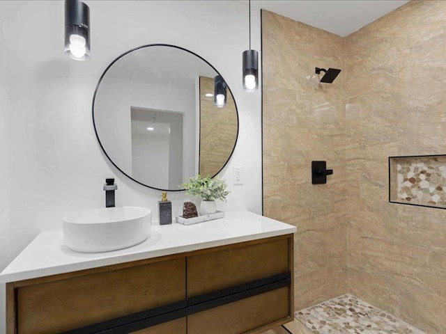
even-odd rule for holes
{"type": "Polygon", "coordinates": [[[90,8],[78,0],[65,0],[66,56],[88,61],[90,56],[90,8]]]}

